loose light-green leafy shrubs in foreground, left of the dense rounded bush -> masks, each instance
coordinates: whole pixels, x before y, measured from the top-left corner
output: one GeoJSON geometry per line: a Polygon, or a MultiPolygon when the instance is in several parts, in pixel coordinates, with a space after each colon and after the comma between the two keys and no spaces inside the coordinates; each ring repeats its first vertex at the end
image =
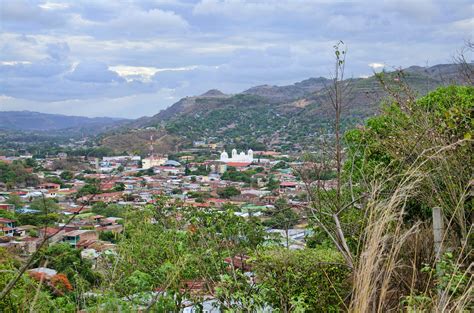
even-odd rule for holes
{"type": "Polygon", "coordinates": [[[118,262],[118,268],[106,270],[121,295],[161,288],[175,295],[176,305],[185,296],[199,298],[184,288],[186,281],[220,281],[227,273],[226,257],[254,250],[263,241],[258,222],[247,222],[233,211],[177,210],[158,201],[156,209],[147,206],[126,217],[125,233],[118,243],[120,258],[112,261],[118,262]]]}

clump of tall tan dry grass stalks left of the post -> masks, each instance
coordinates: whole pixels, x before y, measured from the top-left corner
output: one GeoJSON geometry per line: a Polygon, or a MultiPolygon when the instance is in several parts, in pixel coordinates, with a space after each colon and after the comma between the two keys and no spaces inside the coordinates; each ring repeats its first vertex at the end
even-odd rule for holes
{"type": "Polygon", "coordinates": [[[403,213],[407,199],[414,195],[421,176],[413,172],[391,195],[384,199],[383,183],[372,184],[367,202],[367,227],[363,250],[353,274],[351,312],[382,312],[390,298],[392,275],[405,240],[418,225],[403,228],[403,213]]]}

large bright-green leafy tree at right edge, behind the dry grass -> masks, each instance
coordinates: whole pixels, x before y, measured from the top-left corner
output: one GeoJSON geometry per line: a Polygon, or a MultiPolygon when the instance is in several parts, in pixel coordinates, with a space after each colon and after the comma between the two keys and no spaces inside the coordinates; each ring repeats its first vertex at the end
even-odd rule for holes
{"type": "Polygon", "coordinates": [[[346,172],[363,183],[368,177],[403,173],[422,158],[421,169],[429,175],[417,198],[409,201],[407,218],[426,219],[429,208],[441,206],[466,236],[465,220],[472,214],[465,188],[472,178],[473,109],[471,86],[442,87],[408,105],[392,103],[364,128],[346,133],[346,172]]]}

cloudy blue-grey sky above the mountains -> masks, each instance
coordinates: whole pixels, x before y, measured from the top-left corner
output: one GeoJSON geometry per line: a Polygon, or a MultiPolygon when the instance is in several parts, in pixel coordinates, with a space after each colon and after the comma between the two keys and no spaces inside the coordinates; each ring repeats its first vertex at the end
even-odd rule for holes
{"type": "Polygon", "coordinates": [[[471,0],[0,0],[0,110],[137,118],[209,89],[450,63],[471,0]]]}

